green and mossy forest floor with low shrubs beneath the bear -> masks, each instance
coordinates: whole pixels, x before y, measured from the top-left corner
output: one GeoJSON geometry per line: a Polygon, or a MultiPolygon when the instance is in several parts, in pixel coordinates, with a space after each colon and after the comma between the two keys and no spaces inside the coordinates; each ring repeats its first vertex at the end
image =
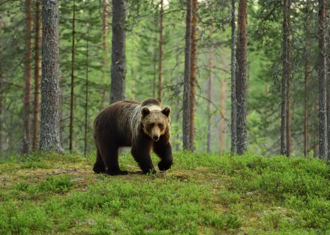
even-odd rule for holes
{"type": "MultiPolygon", "coordinates": [[[[330,167],[281,156],[173,153],[173,167],[96,175],[94,157],[33,153],[0,164],[0,234],[330,234],[330,167]]],[[[159,161],[152,156],[156,166],[159,161]]]]}

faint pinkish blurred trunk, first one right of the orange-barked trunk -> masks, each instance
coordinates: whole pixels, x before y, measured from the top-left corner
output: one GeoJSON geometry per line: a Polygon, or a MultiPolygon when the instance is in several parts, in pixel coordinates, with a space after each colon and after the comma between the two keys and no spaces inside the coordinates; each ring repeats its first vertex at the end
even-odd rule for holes
{"type": "MultiPolygon", "coordinates": [[[[211,27],[210,35],[213,33],[213,27],[211,27]]],[[[209,49],[209,61],[208,61],[208,86],[207,86],[207,139],[206,146],[207,152],[211,152],[211,119],[212,119],[212,86],[213,86],[213,45],[209,49]]]]}

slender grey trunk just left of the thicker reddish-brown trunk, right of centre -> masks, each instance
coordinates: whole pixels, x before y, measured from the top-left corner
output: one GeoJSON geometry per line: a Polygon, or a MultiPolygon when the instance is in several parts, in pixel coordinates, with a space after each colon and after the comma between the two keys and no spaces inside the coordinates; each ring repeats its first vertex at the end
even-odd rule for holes
{"type": "Polygon", "coordinates": [[[235,57],[235,0],[231,0],[231,66],[230,66],[230,84],[231,84],[231,153],[237,152],[237,134],[236,134],[236,122],[237,122],[237,101],[236,101],[236,57],[235,57]]]}

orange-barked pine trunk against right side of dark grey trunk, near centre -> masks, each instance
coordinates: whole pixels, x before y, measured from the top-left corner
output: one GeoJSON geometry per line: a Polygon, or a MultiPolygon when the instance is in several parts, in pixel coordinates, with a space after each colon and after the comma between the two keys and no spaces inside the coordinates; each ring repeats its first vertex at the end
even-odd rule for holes
{"type": "Polygon", "coordinates": [[[198,1],[192,0],[192,19],[191,19],[191,61],[190,61],[190,126],[189,141],[190,150],[194,151],[195,139],[195,89],[196,89],[196,69],[197,69],[197,7],[198,1]]]}

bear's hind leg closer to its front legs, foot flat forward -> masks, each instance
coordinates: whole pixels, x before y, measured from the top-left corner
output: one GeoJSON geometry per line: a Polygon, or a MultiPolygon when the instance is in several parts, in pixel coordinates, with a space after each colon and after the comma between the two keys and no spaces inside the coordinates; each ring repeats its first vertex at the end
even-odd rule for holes
{"type": "Polygon", "coordinates": [[[109,145],[103,161],[107,167],[106,174],[110,176],[127,175],[127,171],[120,171],[118,163],[118,146],[109,145]]]}

